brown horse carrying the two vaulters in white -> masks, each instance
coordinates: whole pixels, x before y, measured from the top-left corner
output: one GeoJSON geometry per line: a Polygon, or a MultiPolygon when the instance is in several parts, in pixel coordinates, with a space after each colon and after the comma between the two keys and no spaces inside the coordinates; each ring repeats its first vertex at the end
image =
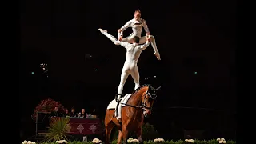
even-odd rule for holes
{"type": "MultiPolygon", "coordinates": [[[[159,89],[160,87],[158,87],[159,89]]],[[[134,131],[138,136],[138,141],[142,142],[142,124],[144,117],[151,114],[154,99],[157,97],[153,86],[144,85],[134,90],[125,106],[122,107],[120,124],[114,115],[114,109],[106,109],[105,128],[106,144],[110,143],[110,134],[114,126],[118,126],[118,144],[127,142],[128,133],[134,131]]],[[[120,103],[121,105],[121,103],[120,103]]]]}

